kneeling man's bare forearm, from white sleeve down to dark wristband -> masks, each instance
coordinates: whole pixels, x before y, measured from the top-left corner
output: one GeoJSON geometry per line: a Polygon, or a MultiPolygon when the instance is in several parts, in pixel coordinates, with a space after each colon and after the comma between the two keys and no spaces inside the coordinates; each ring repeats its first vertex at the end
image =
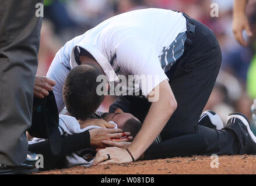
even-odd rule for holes
{"type": "Polygon", "coordinates": [[[141,130],[136,135],[131,146],[129,146],[129,150],[135,159],[138,159],[149,145],[152,144],[157,135],[163,130],[163,127],[166,125],[171,115],[173,115],[176,108],[177,102],[168,81],[160,83],[159,100],[152,102],[141,130]]]}

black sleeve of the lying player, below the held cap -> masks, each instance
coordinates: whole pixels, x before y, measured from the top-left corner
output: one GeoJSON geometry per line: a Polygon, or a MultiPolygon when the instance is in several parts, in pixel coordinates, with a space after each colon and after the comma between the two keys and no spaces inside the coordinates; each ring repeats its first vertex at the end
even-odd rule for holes
{"type": "Polygon", "coordinates": [[[90,147],[90,133],[85,131],[79,134],[61,137],[61,152],[54,155],[48,141],[29,145],[29,151],[43,155],[44,168],[40,170],[61,169],[65,166],[65,156],[80,149],[90,147]]]}

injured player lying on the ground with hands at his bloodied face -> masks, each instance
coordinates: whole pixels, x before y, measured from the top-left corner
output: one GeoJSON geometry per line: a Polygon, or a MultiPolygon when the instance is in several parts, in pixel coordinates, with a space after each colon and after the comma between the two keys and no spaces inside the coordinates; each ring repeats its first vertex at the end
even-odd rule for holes
{"type": "MultiPolygon", "coordinates": [[[[65,146],[68,144],[69,146],[69,153],[68,151],[61,152],[58,156],[52,155],[52,152],[49,151],[50,146],[47,142],[40,138],[33,138],[29,141],[29,150],[31,152],[40,153],[44,156],[44,169],[55,169],[55,168],[64,168],[64,167],[72,167],[72,166],[91,166],[93,163],[94,156],[96,155],[96,149],[102,149],[106,147],[104,145],[104,140],[110,140],[115,143],[115,145],[125,147],[125,145],[130,145],[128,141],[131,141],[133,137],[138,133],[141,129],[141,122],[136,119],[136,117],[132,116],[129,113],[118,112],[118,109],[115,113],[94,113],[87,119],[86,121],[79,121],[74,122],[74,118],[67,115],[59,115],[59,131],[61,132],[62,136],[68,136],[73,134],[80,134],[84,133],[85,131],[90,131],[95,128],[106,128],[103,124],[103,121],[107,121],[108,127],[113,127],[110,124],[114,124],[115,128],[119,128],[122,131],[127,131],[122,133],[117,137],[117,135],[113,135],[112,138],[101,138],[100,133],[96,136],[95,139],[90,140],[90,146],[85,146],[82,149],[77,149],[78,151],[70,152],[72,149],[72,142],[65,141],[65,146]],[[92,120],[94,122],[92,122],[92,120]],[[95,122],[98,120],[98,122],[95,122]],[[93,124],[93,125],[92,125],[93,124]],[[133,137],[132,137],[133,136],[133,137]],[[101,144],[99,142],[95,143],[95,141],[103,140],[101,144]]],[[[108,129],[106,129],[108,130],[108,129]]],[[[87,141],[89,139],[86,139],[87,141]]],[[[76,141],[76,143],[84,143],[80,141],[76,141]]],[[[127,146],[128,147],[128,146],[127,146]]]]}

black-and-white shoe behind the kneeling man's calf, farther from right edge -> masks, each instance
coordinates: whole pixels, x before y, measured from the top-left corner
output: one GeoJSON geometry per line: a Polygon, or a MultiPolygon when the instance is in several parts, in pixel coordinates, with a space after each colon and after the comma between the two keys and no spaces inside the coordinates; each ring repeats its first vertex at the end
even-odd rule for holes
{"type": "Polygon", "coordinates": [[[203,112],[200,116],[198,124],[217,130],[221,130],[224,127],[219,115],[217,115],[212,110],[206,110],[205,112],[203,112]]]}

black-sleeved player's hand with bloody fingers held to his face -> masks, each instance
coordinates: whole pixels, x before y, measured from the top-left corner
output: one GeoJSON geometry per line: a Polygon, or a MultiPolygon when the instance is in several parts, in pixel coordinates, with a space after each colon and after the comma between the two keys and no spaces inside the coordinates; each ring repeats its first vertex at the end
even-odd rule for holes
{"type": "MultiPolygon", "coordinates": [[[[121,138],[131,135],[129,132],[122,133],[120,128],[94,128],[89,130],[90,144],[92,148],[106,148],[106,145],[102,143],[103,140],[113,140],[114,138],[121,138]]],[[[128,141],[129,139],[123,139],[120,142],[128,141]]]]}

